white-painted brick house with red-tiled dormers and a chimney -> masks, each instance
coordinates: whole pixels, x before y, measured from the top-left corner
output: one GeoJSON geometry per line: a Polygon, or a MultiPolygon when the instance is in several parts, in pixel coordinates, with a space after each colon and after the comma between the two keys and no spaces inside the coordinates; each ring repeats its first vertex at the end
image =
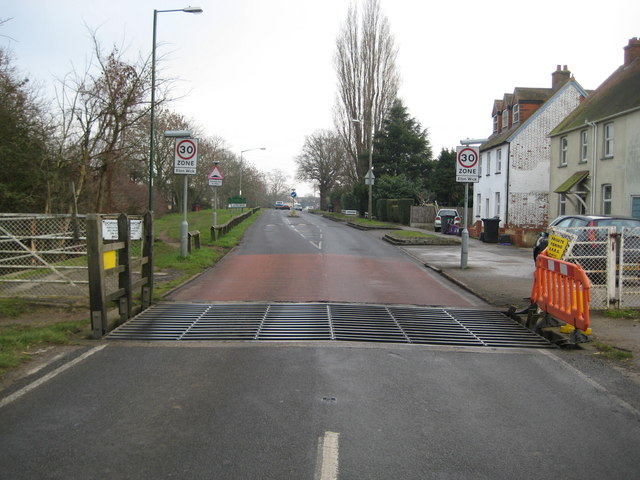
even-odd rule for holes
{"type": "Polygon", "coordinates": [[[476,221],[499,217],[517,245],[532,244],[548,221],[549,133],[587,96],[566,65],[551,78],[551,88],[517,87],[495,100],[493,133],[480,145],[476,221]]]}

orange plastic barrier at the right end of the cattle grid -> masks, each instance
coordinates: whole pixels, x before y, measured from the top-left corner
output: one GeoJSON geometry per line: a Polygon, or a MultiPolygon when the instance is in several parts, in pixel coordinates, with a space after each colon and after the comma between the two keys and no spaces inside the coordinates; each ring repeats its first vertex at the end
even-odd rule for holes
{"type": "Polygon", "coordinates": [[[531,302],[569,325],[589,328],[591,284],[580,265],[538,255],[531,302]]]}

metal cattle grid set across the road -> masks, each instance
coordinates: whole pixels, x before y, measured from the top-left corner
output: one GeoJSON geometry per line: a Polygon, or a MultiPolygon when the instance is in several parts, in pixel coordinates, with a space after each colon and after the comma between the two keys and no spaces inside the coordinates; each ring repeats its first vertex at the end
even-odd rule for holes
{"type": "Polygon", "coordinates": [[[501,312],[360,304],[159,304],[112,340],[362,341],[548,348],[501,312]]]}

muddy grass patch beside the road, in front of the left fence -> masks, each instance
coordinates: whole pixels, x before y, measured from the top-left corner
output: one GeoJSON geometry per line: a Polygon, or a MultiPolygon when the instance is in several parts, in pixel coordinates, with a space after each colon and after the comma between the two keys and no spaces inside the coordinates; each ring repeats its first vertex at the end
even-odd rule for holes
{"type": "Polygon", "coordinates": [[[30,358],[30,351],[44,345],[68,345],[89,335],[87,320],[58,322],[46,326],[0,326],[0,375],[30,358]],[[86,333],[86,335],[85,335],[86,333]]]}

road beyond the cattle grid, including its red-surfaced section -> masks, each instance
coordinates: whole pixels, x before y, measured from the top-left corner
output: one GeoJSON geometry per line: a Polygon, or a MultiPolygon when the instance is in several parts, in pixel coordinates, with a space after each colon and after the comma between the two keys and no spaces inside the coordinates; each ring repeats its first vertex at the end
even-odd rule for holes
{"type": "Polygon", "coordinates": [[[482,305],[366,232],[286,210],[265,211],[235,252],[169,299],[482,305]]]}

